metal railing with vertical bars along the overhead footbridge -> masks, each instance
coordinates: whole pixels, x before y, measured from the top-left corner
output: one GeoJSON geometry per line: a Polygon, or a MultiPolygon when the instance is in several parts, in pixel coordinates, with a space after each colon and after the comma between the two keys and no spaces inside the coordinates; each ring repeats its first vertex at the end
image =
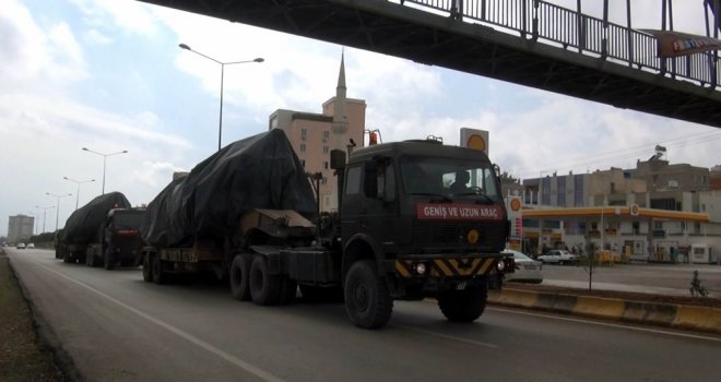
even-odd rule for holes
{"type": "Polygon", "coordinates": [[[716,51],[676,58],[657,57],[655,37],[542,0],[401,0],[416,9],[430,9],[463,21],[497,25],[581,55],[690,80],[717,88],[721,65],[716,51]]]}

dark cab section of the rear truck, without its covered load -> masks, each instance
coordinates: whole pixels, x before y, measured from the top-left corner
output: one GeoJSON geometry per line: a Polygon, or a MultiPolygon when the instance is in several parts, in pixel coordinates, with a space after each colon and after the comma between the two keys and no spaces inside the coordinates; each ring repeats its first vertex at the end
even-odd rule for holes
{"type": "Polygon", "coordinates": [[[140,223],[144,208],[113,208],[98,227],[97,242],[87,246],[85,264],[111,271],[117,264],[133,265],[143,248],[140,223]]]}

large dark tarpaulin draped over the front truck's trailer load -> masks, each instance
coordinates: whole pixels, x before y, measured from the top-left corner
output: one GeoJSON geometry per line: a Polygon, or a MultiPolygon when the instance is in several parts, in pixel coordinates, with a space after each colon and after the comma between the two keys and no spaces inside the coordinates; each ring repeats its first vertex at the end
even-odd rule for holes
{"type": "Polygon", "coordinates": [[[252,208],[316,213],[310,182],[282,130],[234,142],[170,182],[147,205],[140,231],[161,248],[232,238],[252,208]]]}

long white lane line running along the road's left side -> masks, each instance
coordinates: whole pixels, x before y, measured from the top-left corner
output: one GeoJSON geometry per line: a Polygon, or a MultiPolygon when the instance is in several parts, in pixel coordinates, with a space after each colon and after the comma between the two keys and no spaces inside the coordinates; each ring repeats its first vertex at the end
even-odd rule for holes
{"type": "Polygon", "coordinates": [[[64,275],[64,274],[62,274],[62,273],[60,273],[56,270],[52,270],[52,268],[48,267],[47,265],[40,264],[39,262],[37,262],[35,260],[31,260],[31,261],[34,262],[35,264],[44,267],[45,270],[47,270],[49,272],[52,272],[56,275],[69,280],[69,282],[72,282],[72,283],[74,283],[74,284],[76,284],[76,285],[79,285],[79,286],[81,286],[81,287],[98,295],[98,296],[102,296],[102,297],[106,298],[107,300],[118,305],[119,307],[125,308],[125,309],[140,315],[141,318],[143,318],[143,319],[145,319],[145,320],[147,320],[147,321],[150,321],[150,322],[152,322],[152,323],[169,331],[170,333],[176,334],[181,338],[185,338],[186,341],[192,343],[193,345],[197,345],[197,346],[199,346],[199,347],[201,347],[201,348],[203,348],[203,349],[205,349],[205,350],[208,350],[208,351],[225,359],[226,361],[239,367],[240,369],[243,369],[243,370],[245,370],[245,371],[247,371],[247,372],[249,372],[249,373],[251,373],[251,374],[253,374],[253,375],[256,375],[256,377],[258,377],[258,378],[260,378],[264,381],[272,381],[272,382],[283,382],[284,381],[283,379],[280,379],[280,378],[271,374],[270,372],[268,372],[265,370],[262,370],[258,367],[252,366],[251,363],[249,363],[247,361],[244,361],[240,358],[237,358],[233,355],[229,355],[229,354],[218,349],[217,347],[215,347],[215,346],[213,346],[213,345],[211,345],[211,344],[193,336],[192,334],[187,333],[187,332],[185,332],[185,331],[182,331],[182,330],[180,330],[176,326],[173,326],[173,325],[170,325],[170,324],[168,324],[168,323],[166,323],[166,322],[164,322],[159,319],[156,319],[156,318],[154,318],[154,317],[137,309],[137,308],[133,308],[133,307],[131,307],[131,306],[129,306],[129,305],[127,305],[127,303],[109,296],[109,295],[106,295],[106,294],[93,288],[92,286],[90,286],[87,284],[81,283],[81,282],[79,282],[74,278],[71,278],[71,277],[69,277],[69,276],[67,276],[67,275],[64,275]]]}

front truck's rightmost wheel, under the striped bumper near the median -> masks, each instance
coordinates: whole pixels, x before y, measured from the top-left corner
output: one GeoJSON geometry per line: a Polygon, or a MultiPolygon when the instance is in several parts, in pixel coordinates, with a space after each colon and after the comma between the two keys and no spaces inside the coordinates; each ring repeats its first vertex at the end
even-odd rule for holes
{"type": "Polygon", "coordinates": [[[473,322],[486,308],[486,283],[463,290],[444,290],[438,294],[438,307],[448,321],[473,322]]]}

